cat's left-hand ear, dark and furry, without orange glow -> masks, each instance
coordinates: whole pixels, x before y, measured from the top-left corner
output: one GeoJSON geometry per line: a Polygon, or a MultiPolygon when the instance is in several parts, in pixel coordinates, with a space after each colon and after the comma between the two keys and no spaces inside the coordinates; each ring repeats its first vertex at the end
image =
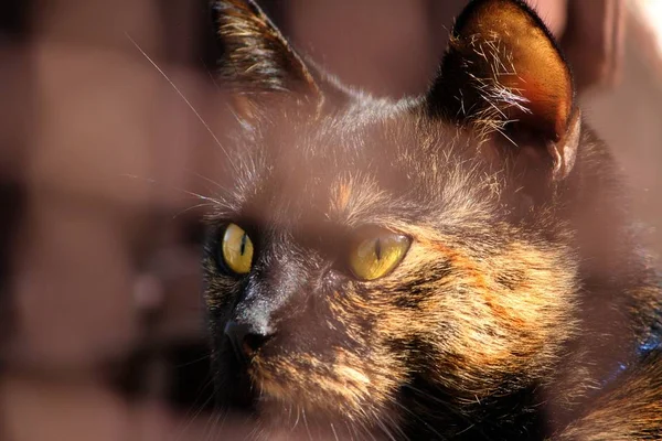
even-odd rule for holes
{"type": "Polygon", "coordinates": [[[266,94],[320,95],[310,69],[253,0],[213,0],[220,75],[243,105],[266,94]]]}

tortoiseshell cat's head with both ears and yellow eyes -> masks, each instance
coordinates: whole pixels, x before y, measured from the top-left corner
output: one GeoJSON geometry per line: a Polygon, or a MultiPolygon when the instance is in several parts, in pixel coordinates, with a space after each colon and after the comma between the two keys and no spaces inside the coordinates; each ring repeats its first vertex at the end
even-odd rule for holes
{"type": "Polygon", "coordinates": [[[214,6],[237,118],[204,261],[222,404],[377,428],[423,388],[450,408],[546,377],[574,332],[554,202],[580,117],[537,15],[472,1],[427,94],[394,101],[321,72],[255,3],[214,6]]]}

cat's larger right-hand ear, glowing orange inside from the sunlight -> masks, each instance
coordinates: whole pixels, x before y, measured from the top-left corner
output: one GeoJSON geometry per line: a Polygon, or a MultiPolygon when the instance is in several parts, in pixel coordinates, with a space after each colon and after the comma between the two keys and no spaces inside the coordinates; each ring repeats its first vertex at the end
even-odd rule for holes
{"type": "MultiPolygon", "coordinates": [[[[456,21],[426,106],[528,149],[551,178],[575,163],[580,112],[570,69],[549,31],[521,0],[473,0],[456,21]]],[[[510,142],[509,141],[509,142],[510,142]]]]}

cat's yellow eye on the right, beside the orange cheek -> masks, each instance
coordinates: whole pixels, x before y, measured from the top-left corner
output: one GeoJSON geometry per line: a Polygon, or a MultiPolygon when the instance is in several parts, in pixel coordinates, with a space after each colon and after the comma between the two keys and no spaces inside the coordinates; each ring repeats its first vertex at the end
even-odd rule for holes
{"type": "Polygon", "coordinates": [[[350,268],[362,280],[375,280],[398,266],[409,249],[409,238],[387,229],[360,234],[350,248],[350,268]]]}

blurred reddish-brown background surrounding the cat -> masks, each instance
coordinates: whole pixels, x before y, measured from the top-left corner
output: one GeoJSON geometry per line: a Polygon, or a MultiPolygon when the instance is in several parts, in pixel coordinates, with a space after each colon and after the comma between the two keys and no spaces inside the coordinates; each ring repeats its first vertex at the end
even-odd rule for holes
{"type": "MultiPolygon", "coordinates": [[[[345,83],[401,97],[466,1],[259,3],[345,83]]],[[[532,4],[661,250],[662,1],[532,4]]],[[[0,3],[0,440],[249,432],[212,413],[200,300],[222,50],[206,0],[0,3]]]]}

